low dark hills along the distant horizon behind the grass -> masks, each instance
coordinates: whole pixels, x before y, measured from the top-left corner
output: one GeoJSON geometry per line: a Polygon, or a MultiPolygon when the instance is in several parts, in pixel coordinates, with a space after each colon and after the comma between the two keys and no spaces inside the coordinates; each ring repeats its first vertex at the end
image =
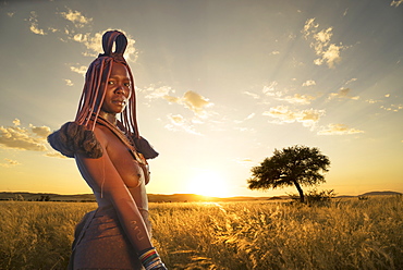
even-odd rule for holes
{"type": "MultiPolygon", "coordinates": [[[[338,198],[351,198],[362,196],[382,196],[382,195],[402,195],[398,192],[368,192],[358,196],[342,195],[338,198]]],[[[249,200],[283,200],[289,199],[290,196],[273,196],[273,197],[248,197],[237,196],[228,198],[207,197],[196,194],[148,194],[150,202],[191,202],[191,201],[249,201],[249,200]]],[[[28,200],[28,201],[95,201],[94,194],[75,194],[75,195],[60,195],[52,193],[10,193],[0,192],[0,200],[28,200]]]]}

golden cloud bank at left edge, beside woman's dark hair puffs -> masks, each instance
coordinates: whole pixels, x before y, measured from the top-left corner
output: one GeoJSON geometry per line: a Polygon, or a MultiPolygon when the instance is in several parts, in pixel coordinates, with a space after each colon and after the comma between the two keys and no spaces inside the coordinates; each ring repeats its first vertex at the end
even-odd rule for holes
{"type": "Polygon", "coordinates": [[[13,121],[14,126],[0,126],[0,146],[20,150],[47,151],[46,137],[50,134],[48,126],[20,127],[20,120],[13,121]]]}

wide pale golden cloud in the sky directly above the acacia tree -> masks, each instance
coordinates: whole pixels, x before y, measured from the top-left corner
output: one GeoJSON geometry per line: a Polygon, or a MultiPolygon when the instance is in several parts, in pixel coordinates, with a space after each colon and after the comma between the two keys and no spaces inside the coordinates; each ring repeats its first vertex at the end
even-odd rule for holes
{"type": "Polygon", "coordinates": [[[280,122],[277,123],[298,122],[302,123],[304,126],[314,127],[315,124],[320,120],[320,118],[325,115],[325,110],[308,109],[293,111],[290,110],[286,106],[278,106],[274,108],[270,108],[269,111],[265,111],[262,114],[280,120],[280,122]]]}

